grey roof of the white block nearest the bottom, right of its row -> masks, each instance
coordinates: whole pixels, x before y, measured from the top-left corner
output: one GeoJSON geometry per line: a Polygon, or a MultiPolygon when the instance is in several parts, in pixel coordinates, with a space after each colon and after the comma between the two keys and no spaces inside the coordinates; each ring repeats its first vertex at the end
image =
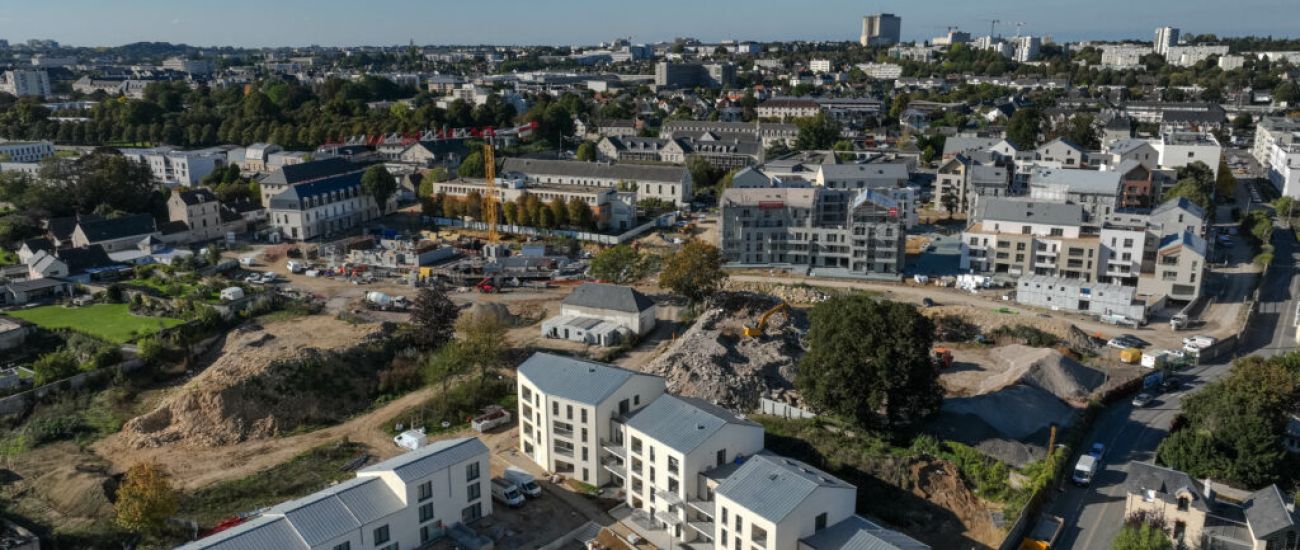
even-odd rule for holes
{"type": "Polygon", "coordinates": [[[745,460],[716,493],[759,517],[780,523],[819,489],[857,490],[800,460],[763,451],[745,460]]]}

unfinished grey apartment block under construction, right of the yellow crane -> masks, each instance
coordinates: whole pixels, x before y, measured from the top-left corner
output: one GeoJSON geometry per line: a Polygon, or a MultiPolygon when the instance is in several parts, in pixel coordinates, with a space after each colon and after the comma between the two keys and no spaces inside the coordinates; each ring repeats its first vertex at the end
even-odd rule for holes
{"type": "Polygon", "coordinates": [[[848,277],[898,277],[902,207],[876,190],[732,187],[723,191],[722,254],[736,265],[848,277]]]}

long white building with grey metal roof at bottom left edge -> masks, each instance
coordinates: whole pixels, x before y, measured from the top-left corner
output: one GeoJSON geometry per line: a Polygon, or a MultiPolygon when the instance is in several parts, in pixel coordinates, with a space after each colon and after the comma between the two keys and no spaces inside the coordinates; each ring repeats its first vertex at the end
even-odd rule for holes
{"type": "Polygon", "coordinates": [[[417,549],[445,536],[459,540],[465,524],[490,514],[488,446],[468,437],[363,468],[352,480],[179,550],[417,549]]]}

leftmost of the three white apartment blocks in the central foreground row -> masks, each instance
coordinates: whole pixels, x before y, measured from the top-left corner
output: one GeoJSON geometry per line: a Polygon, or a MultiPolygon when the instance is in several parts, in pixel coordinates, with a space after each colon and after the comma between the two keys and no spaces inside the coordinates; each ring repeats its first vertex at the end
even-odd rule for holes
{"type": "Polygon", "coordinates": [[[533,354],[519,365],[519,447],[547,472],[602,486],[629,415],[663,395],[662,377],[533,354]]]}

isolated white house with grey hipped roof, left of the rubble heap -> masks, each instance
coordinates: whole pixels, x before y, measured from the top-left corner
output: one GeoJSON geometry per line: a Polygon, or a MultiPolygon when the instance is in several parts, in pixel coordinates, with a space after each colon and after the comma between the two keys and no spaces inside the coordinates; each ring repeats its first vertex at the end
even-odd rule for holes
{"type": "Polygon", "coordinates": [[[560,315],[542,322],[542,335],[614,346],[649,334],[655,325],[654,300],[636,289],[588,282],[560,303],[560,315]]]}

